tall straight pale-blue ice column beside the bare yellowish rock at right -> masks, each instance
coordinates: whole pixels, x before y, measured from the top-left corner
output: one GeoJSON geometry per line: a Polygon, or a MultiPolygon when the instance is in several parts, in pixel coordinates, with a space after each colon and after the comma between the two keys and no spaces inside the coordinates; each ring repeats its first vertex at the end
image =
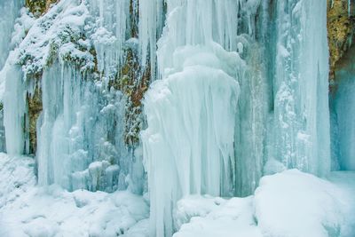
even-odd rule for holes
{"type": "Polygon", "coordinates": [[[330,170],[327,3],[280,1],[271,158],[316,175],[330,170]]]}

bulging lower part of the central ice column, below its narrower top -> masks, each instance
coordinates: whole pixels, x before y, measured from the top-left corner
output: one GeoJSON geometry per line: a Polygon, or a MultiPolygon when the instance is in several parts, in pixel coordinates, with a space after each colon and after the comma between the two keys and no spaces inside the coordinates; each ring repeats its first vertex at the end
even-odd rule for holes
{"type": "Polygon", "coordinates": [[[174,57],[177,71],[154,83],[145,99],[152,236],[171,236],[181,197],[233,194],[238,55],[212,43],[186,46],[174,57]]]}

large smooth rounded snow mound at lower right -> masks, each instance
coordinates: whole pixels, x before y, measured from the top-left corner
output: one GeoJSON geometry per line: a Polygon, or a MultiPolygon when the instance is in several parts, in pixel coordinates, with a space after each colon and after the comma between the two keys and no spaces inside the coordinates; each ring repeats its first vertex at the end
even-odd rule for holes
{"type": "Polygon", "coordinates": [[[341,191],[299,170],[266,176],[256,189],[258,225],[264,236],[339,236],[341,191]]]}

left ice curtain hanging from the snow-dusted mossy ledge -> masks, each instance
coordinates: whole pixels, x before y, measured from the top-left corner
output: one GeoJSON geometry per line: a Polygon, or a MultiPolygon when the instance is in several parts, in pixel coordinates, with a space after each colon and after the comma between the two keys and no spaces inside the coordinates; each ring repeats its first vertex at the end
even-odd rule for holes
{"type": "Polygon", "coordinates": [[[130,1],[63,0],[37,19],[24,10],[17,20],[13,40],[19,45],[5,76],[7,151],[28,154],[28,103],[39,90],[41,186],[143,191],[141,155],[123,138],[127,98],[109,82],[119,77],[125,56],[129,6],[130,1]]]}

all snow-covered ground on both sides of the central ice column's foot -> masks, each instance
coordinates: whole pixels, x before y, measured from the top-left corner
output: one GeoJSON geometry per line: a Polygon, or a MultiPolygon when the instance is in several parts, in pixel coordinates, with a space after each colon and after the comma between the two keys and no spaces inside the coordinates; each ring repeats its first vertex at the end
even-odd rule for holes
{"type": "MultiPolygon", "coordinates": [[[[0,154],[0,236],[148,236],[145,198],[39,187],[33,170],[33,158],[0,154]]],[[[246,198],[185,197],[174,237],[353,237],[355,172],[327,179],[286,170],[262,178],[246,198]]]]}

